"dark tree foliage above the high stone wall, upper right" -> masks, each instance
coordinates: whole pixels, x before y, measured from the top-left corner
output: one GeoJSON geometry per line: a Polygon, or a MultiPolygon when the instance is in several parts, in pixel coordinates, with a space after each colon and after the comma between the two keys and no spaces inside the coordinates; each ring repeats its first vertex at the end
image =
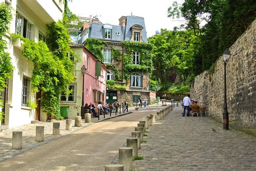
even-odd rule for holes
{"type": "Polygon", "coordinates": [[[169,8],[169,17],[184,17],[187,28],[200,39],[198,51],[193,54],[195,74],[210,69],[256,17],[253,0],[186,0],[182,6],[176,2],[169,8]],[[206,24],[201,26],[202,22],[206,24]]]}

